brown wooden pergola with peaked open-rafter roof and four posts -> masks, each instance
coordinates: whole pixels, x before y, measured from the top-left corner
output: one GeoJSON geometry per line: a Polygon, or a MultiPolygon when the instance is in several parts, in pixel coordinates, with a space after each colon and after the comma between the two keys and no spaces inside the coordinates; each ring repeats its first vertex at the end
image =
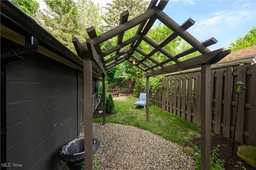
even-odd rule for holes
{"type": "MultiPolygon", "coordinates": [[[[230,53],[230,50],[223,51],[223,49],[218,49],[210,51],[207,47],[217,41],[214,38],[210,38],[204,42],[199,42],[186,31],[194,24],[194,21],[189,18],[180,26],[162,11],[167,3],[168,0],[160,0],[159,3],[157,0],[152,0],[146,12],[129,21],[129,12],[122,12],[120,15],[120,25],[98,36],[96,35],[94,27],[90,27],[86,29],[90,39],[87,39],[84,43],[80,43],[76,38],[73,38],[73,43],[78,56],[84,61],[84,159],[86,170],[92,170],[93,168],[91,97],[92,65],[93,63],[96,64],[102,74],[103,94],[105,95],[106,71],[126,60],[130,62],[132,59],[136,59],[138,63],[136,63],[135,66],[145,72],[144,76],[146,77],[147,93],[146,121],[149,121],[149,77],[201,66],[201,169],[210,169],[210,65],[220,61],[220,59],[230,53]],[[168,35],[167,38],[159,44],[146,36],[157,19],[173,31],[172,34],[168,35]],[[123,41],[125,31],[134,28],[135,26],[138,26],[136,34],[132,38],[123,41]],[[102,51],[100,43],[115,36],[117,36],[116,45],[106,51],[102,51]],[[174,55],[164,49],[164,46],[178,36],[188,42],[192,47],[174,55]],[[138,47],[142,41],[145,41],[152,46],[153,50],[150,53],[146,53],[138,47]],[[142,59],[136,57],[134,54],[135,51],[144,57],[142,59]],[[162,53],[162,55],[165,55],[167,59],[158,61],[152,57],[152,55],[157,51],[162,53]],[[199,51],[202,55],[184,61],[180,59],[180,57],[195,51],[199,51]],[[104,59],[105,56],[114,52],[114,56],[104,59]],[[154,64],[149,65],[146,63],[145,61],[147,59],[152,61],[154,64]],[[175,64],[168,66],[165,65],[170,61],[174,61],[175,64]]],[[[103,97],[103,115],[103,124],[105,124],[105,96],[103,97]]]]}

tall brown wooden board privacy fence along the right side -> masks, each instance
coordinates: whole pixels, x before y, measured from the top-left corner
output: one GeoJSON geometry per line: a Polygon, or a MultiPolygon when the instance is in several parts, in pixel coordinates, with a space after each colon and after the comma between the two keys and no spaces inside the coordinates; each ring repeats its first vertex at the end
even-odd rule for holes
{"type": "MultiPolygon", "coordinates": [[[[200,76],[197,72],[164,77],[162,89],[150,91],[150,102],[200,126],[200,76]]],[[[235,140],[256,146],[256,64],[211,71],[211,130],[233,137],[238,81],[246,90],[239,97],[235,140]]]]}

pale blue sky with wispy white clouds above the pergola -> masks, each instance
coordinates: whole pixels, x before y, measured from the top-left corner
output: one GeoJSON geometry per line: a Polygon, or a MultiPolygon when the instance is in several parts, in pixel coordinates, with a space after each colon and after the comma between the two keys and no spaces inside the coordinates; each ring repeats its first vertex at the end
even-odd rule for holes
{"type": "MultiPolygon", "coordinates": [[[[40,6],[44,5],[42,0],[40,6]]],[[[77,1],[77,0],[75,0],[77,1]]],[[[92,0],[100,6],[112,0],[92,0]]],[[[229,47],[256,26],[256,0],[169,0],[164,12],[179,25],[188,18],[195,24],[187,31],[200,41],[214,37],[211,50],[229,47]]]]}

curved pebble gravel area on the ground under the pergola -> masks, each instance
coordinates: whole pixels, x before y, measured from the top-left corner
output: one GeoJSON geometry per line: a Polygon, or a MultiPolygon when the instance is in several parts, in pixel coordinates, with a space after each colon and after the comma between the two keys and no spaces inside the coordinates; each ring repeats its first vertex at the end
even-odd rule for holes
{"type": "Polygon", "coordinates": [[[98,170],[192,170],[195,166],[192,156],[184,154],[178,144],[147,130],[93,123],[93,136],[100,141],[94,153],[98,170]]]}

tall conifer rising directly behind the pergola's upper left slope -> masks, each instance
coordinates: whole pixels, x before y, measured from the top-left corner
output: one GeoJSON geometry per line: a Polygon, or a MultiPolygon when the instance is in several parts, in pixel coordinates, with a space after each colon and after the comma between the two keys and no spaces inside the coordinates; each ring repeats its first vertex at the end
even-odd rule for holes
{"type": "Polygon", "coordinates": [[[129,11],[129,18],[135,18],[140,14],[146,12],[148,1],[145,0],[113,0],[112,3],[106,4],[106,12],[104,13],[103,20],[106,23],[105,28],[110,30],[119,25],[120,14],[126,10],[129,11]]]}

